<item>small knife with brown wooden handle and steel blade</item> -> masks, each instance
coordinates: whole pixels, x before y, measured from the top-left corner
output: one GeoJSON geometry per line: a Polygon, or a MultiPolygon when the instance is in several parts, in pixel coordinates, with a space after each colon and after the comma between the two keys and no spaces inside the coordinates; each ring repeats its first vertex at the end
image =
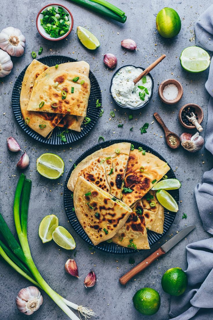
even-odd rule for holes
{"type": "Polygon", "coordinates": [[[179,233],[173,236],[169,241],[164,243],[160,248],[158,248],[155,252],[153,252],[150,256],[148,256],[145,260],[141,261],[137,266],[128,271],[124,276],[122,276],[119,281],[121,284],[126,284],[133,276],[137,275],[139,272],[147,268],[153,261],[158,259],[160,256],[168,252],[171,248],[173,248],[176,244],[180,242],[189,232],[191,232],[195,225],[188,226],[182,229],[179,233]]]}

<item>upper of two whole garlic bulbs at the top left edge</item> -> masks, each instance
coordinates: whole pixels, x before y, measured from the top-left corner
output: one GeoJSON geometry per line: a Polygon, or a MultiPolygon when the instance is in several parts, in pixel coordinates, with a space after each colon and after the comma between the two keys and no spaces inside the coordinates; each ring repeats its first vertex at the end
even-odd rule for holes
{"type": "Polygon", "coordinates": [[[24,53],[25,36],[21,30],[13,27],[7,27],[0,33],[0,48],[6,51],[10,56],[20,57],[24,53]]]}

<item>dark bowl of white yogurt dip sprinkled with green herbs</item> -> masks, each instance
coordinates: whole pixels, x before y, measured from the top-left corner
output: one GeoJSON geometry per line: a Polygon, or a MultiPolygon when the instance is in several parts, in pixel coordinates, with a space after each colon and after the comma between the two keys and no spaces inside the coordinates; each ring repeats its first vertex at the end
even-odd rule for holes
{"type": "Polygon", "coordinates": [[[113,74],[110,84],[112,100],[122,108],[140,109],[152,99],[154,81],[150,73],[134,84],[133,80],[144,68],[127,65],[113,74]]]}

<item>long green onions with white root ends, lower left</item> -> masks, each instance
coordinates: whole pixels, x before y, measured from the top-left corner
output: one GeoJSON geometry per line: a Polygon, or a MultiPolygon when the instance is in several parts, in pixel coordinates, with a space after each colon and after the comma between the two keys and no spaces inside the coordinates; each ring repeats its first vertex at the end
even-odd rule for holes
{"type": "Polygon", "coordinates": [[[88,310],[83,306],[78,306],[77,304],[72,303],[71,301],[68,301],[57,294],[57,292],[50,288],[50,286],[42,278],[34,264],[27,239],[27,216],[31,184],[31,180],[25,179],[25,175],[22,173],[15,191],[13,207],[14,221],[21,246],[12,235],[10,229],[0,214],[0,233],[9,247],[8,248],[3,242],[0,241],[0,255],[20,275],[25,277],[40,289],[43,289],[70,319],[80,320],[79,317],[77,317],[72,310],[68,308],[68,306],[78,310],[83,316],[85,316],[85,319],[88,319],[90,316],[94,316],[95,313],[92,310],[88,310]],[[26,267],[23,265],[23,263],[26,265],[26,267]]]}

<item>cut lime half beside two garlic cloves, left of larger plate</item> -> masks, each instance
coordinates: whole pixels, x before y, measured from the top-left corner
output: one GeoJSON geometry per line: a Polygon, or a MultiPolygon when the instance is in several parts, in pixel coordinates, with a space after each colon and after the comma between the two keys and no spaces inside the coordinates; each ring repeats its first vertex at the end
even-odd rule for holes
{"type": "Polygon", "coordinates": [[[57,179],[64,172],[64,161],[54,153],[44,153],[36,161],[37,171],[49,179],[57,179]]]}

